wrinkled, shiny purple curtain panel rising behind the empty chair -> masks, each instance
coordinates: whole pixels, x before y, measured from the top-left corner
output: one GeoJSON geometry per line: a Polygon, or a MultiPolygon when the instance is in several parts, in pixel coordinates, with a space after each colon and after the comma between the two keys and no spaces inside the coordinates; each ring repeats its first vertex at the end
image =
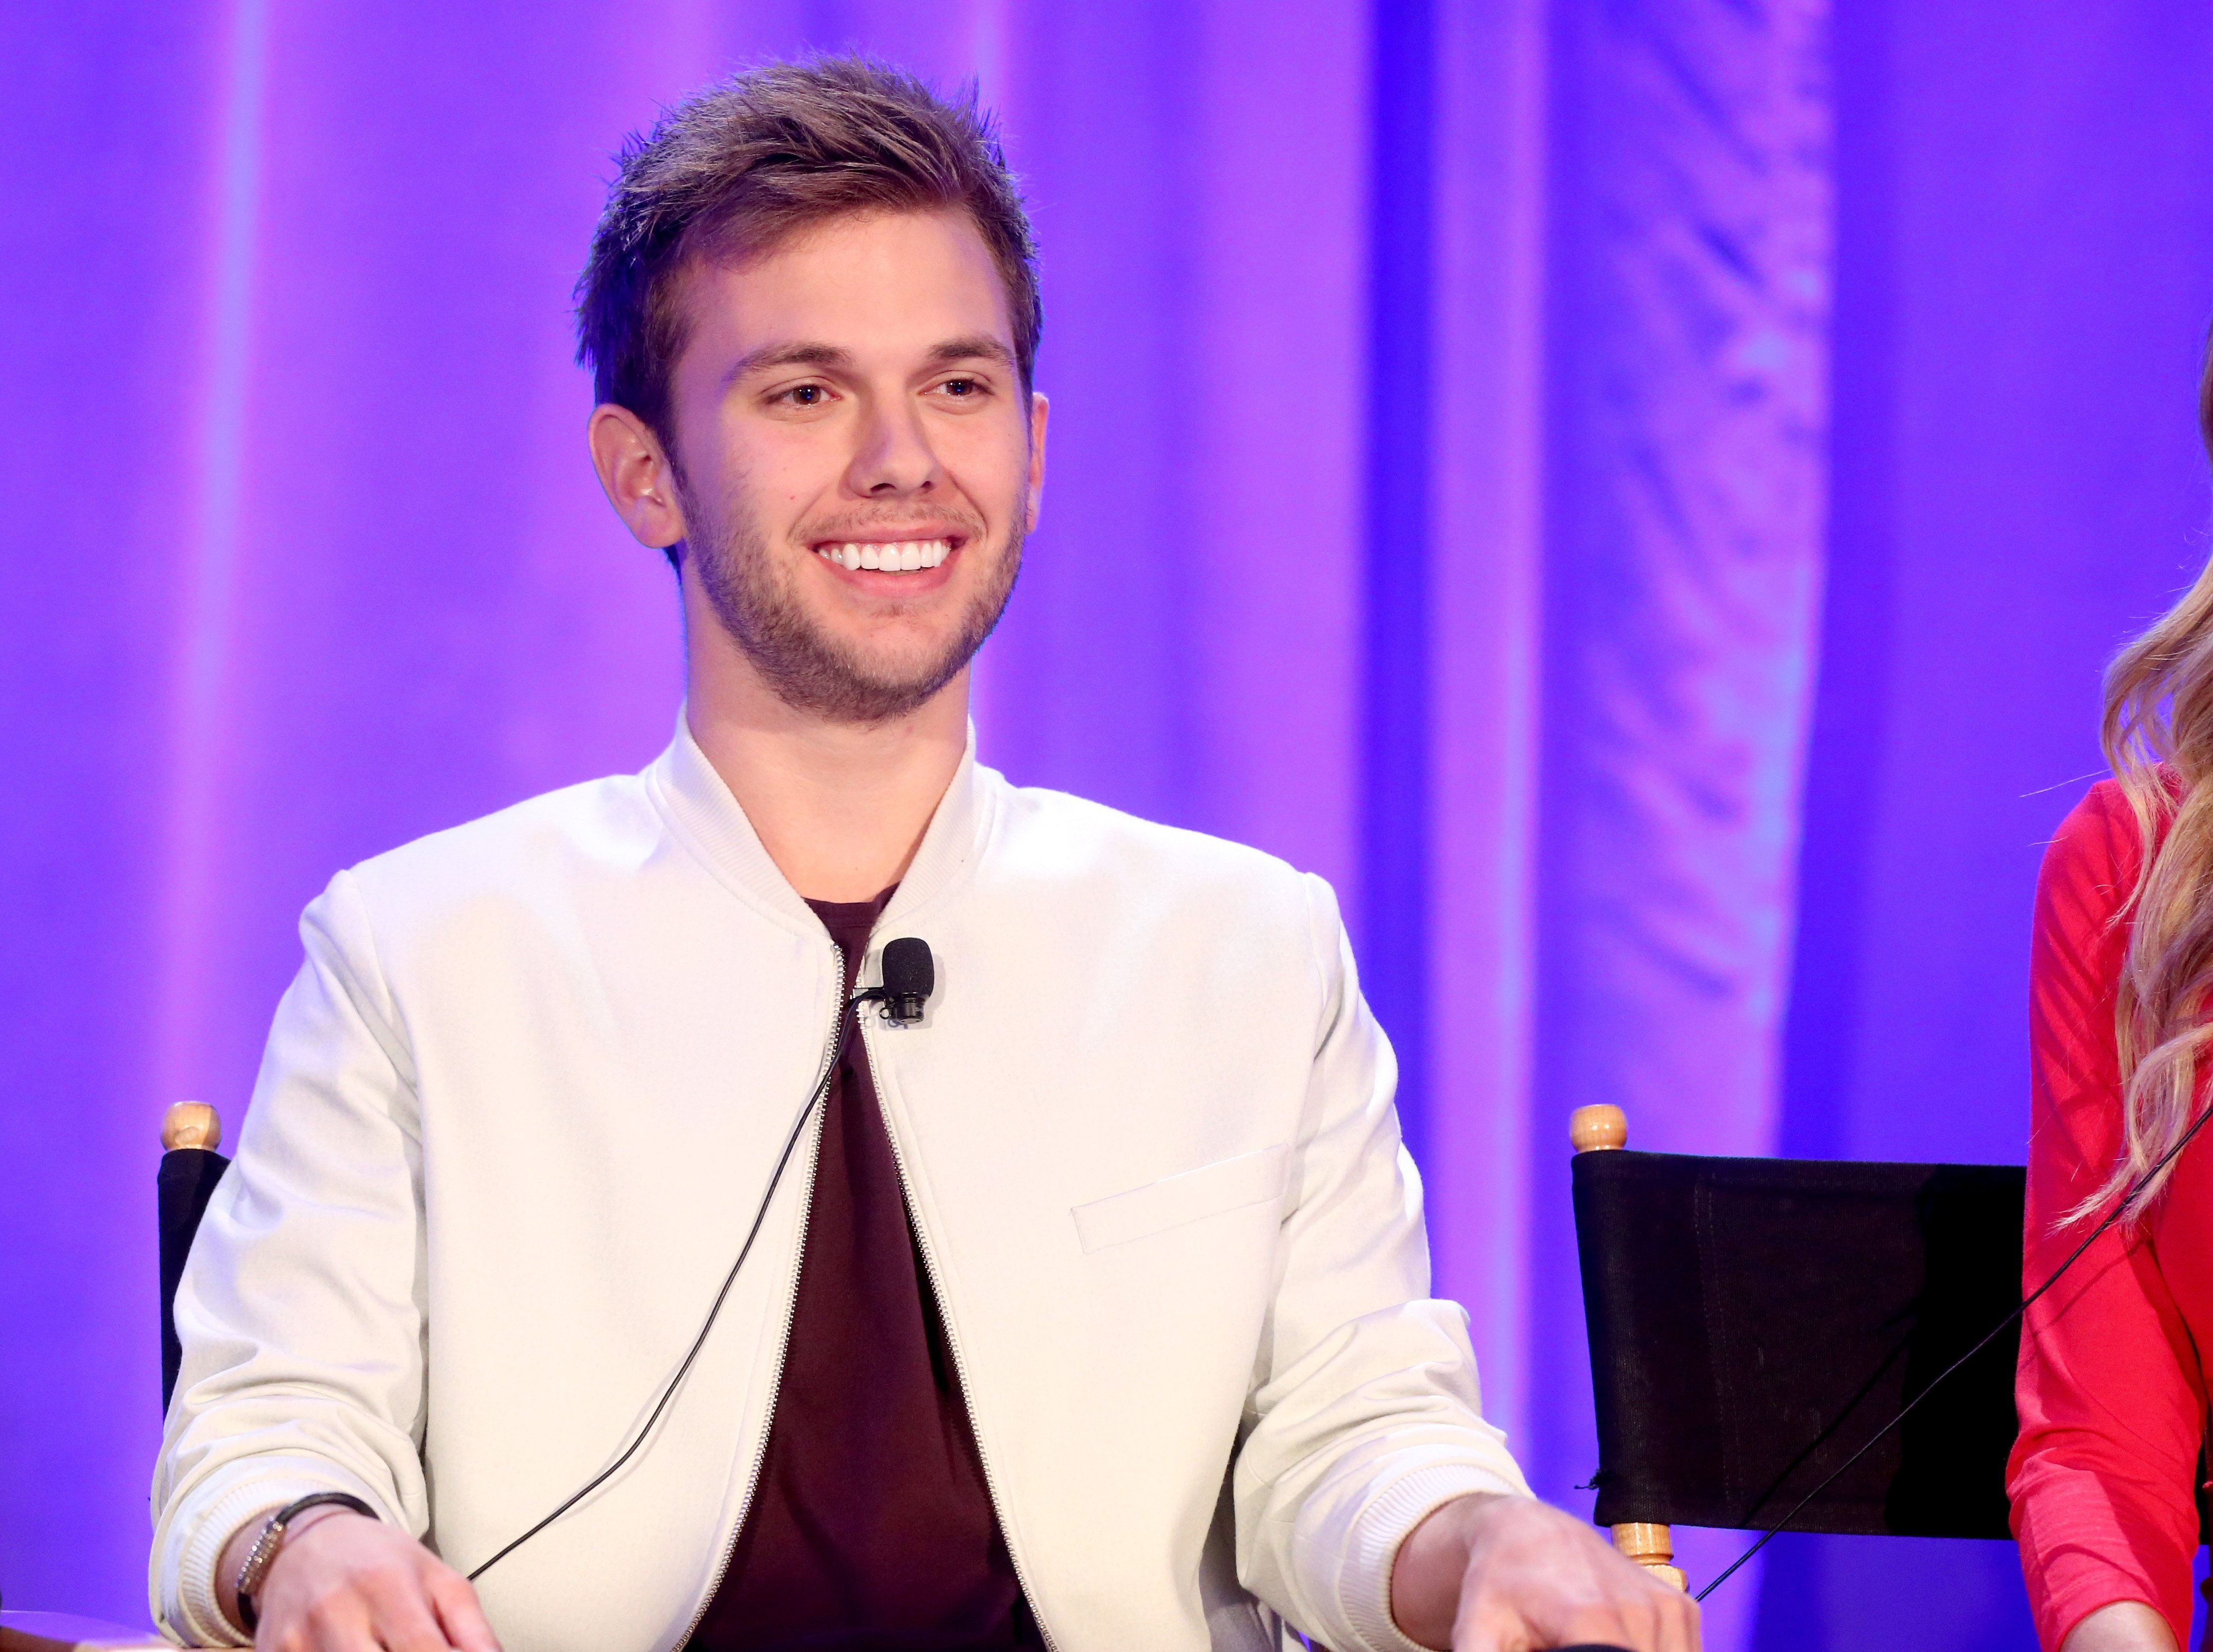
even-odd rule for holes
{"type": "MultiPolygon", "coordinates": [[[[1828,0],[1556,18],[1527,1450],[1569,1495],[1596,1457],[1556,1121],[1775,1149],[1832,215],[1828,0]]],[[[1675,1539],[1697,1579],[1742,1546],[1675,1539]]],[[[1717,1645],[1757,1592],[1713,1597],[1717,1645]]]]}

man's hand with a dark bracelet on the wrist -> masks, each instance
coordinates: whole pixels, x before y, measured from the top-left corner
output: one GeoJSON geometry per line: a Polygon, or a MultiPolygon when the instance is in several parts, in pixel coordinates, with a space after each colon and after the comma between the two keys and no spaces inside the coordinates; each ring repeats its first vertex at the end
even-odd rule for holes
{"type": "MultiPolygon", "coordinates": [[[[261,1521],[224,1546],[217,1603],[239,1623],[237,1581],[261,1521]]],[[[285,1532],[254,1599],[257,1648],[277,1652],[500,1652],[476,1590],[407,1532],[347,1508],[310,1508],[285,1532]]]]}

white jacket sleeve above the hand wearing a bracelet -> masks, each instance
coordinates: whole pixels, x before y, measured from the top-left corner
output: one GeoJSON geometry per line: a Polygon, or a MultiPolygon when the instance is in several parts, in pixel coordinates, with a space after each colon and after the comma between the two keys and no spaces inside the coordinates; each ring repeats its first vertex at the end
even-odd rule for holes
{"type": "Polygon", "coordinates": [[[429,1519],[412,1056],[347,875],[308,908],[301,939],[239,1156],[177,1289],[184,1369],[155,1468],[153,1597],[188,1643],[243,1639],[224,1555],[272,1508],[347,1493],[409,1543],[429,1519]]]}

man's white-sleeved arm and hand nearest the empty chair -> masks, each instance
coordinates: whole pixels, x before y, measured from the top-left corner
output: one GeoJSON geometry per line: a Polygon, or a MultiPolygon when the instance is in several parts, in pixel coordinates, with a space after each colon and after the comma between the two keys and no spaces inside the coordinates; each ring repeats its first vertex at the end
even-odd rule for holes
{"type": "Polygon", "coordinates": [[[1396,1065],[1334,897],[1308,888],[1321,1010],[1233,1473],[1239,1579],[1337,1652],[1518,1652],[1593,1621],[1596,1641],[1689,1652],[1697,1610],[1529,1497],[1483,1419],[1467,1315],[1430,1300],[1396,1065]]]}

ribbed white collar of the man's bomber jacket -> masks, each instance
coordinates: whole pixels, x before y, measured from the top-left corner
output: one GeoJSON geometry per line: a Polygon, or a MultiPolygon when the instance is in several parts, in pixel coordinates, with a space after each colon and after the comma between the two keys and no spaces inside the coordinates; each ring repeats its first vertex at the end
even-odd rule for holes
{"type": "MultiPolygon", "coordinates": [[[[976,762],[976,724],[969,722],[960,766],[929,817],[923,844],[914,850],[914,864],[898,879],[898,895],[876,919],[879,930],[923,912],[969,875],[996,815],[994,782],[998,775],[976,762]]],[[[821,921],[768,857],[761,835],[746,819],[746,810],[715,773],[715,764],[699,751],[682,709],[677,711],[675,740],[646,768],[646,786],[677,839],[724,886],[779,926],[799,935],[821,935],[821,921]]]]}

